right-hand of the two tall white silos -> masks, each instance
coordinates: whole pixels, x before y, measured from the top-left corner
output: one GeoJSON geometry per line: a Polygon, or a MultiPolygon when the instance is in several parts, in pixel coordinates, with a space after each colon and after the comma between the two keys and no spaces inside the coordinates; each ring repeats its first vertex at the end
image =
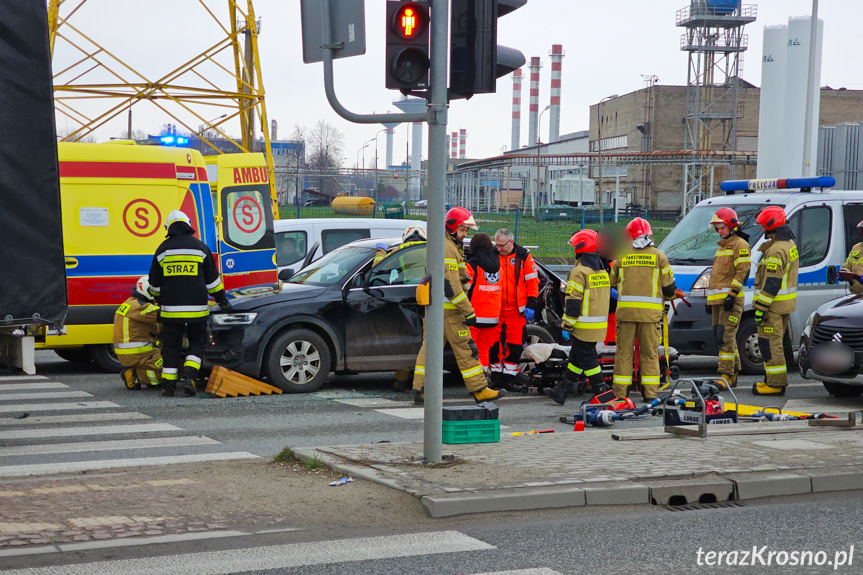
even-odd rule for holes
{"type": "MultiPolygon", "coordinates": [[[[806,88],[809,81],[809,39],[812,19],[809,16],[788,19],[785,64],[785,130],[780,173],[774,177],[799,178],[803,175],[803,132],[806,117],[806,88]]],[[[818,118],[821,105],[821,43],[824,22],[818,21],[818,39],[815,44],[815,93],[812,99],[812,142],[818,142],[818,118]]],[[[759,134],[760,137],[760,134],[759,134]]],[[[760,146],[759,146],[760,148],[760,146]]],[[[812,146],[810,162],[812,174],[817,163],[817,145],[812,146]]]]}

